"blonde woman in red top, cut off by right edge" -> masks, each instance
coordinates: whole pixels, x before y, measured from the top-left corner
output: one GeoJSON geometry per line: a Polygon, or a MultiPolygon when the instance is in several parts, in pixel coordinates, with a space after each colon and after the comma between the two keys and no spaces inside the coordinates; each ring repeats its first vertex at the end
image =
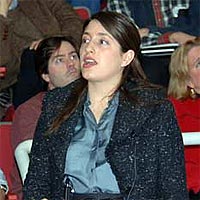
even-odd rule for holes
{"type": "MultiPolygon", "coordinates": [[[[171,57],[168,95],[182,132],[200,131],[200,38],[181,45],[171,57]]],[[[184,134],[184,133],[183,133],[184,134]]],[[[185,146],[190,199],[200,199],[200,146],[185,146]]]]}

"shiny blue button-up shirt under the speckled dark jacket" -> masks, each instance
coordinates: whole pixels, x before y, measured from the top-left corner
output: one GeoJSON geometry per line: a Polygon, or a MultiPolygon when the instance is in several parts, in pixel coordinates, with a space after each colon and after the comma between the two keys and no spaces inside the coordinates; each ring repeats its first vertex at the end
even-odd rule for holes
{"type": "Polygon", "coordinates": [[[118,102],[119,94],[116,94],[98,124],[90,110],[89,98],[84,104],[83,116],[75,127],[65,164],[65,174],[76,193],[120,193],[116,178],[105,158],[118,102]]]}

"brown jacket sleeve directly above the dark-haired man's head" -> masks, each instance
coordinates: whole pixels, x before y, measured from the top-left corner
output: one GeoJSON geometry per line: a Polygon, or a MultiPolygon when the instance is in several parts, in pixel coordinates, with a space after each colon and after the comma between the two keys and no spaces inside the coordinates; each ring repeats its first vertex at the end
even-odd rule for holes
{"type": "Polygon", "coordinates": [[[60,23],[61,33],[70,35],[80,42],[83,21],[73,7],[64,0],[48,1],[49,8],[60,23]]]}

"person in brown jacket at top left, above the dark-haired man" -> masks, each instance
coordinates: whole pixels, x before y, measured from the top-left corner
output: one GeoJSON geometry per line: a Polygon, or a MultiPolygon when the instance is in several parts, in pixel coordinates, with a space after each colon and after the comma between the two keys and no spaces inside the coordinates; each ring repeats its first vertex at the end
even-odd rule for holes
{"type": "Polygon", "coordinates": [[[0,66],[7,70],[0,92],[7,94],[17,81],[24,48],[34,49],[42,38],[53,35],[69,35],[79,42],[82,30],[82,20],[64,0],[19,0],[9,10],[11,3],[0,2],[0,66]]]}

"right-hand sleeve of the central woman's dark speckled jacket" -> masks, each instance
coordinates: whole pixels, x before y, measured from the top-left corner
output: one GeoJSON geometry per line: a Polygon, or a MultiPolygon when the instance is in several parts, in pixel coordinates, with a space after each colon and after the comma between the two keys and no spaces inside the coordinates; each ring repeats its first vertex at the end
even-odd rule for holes
{"type": "Polygon", "coordinates": [[[158,130],[159,186],[161,199],[188,200],[184,146],[173,107],[169,101],[160,107],[158,130]]]}

